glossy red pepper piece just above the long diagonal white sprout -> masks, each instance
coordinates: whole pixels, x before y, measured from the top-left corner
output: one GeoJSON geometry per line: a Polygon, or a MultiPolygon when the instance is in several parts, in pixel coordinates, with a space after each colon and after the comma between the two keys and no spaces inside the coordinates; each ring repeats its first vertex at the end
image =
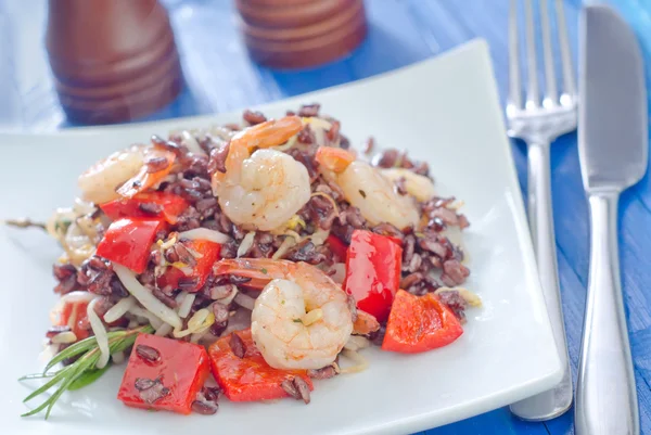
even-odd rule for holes
{"type": "Polygon", "coordinates": [[[111,223],[98,245],[97,254],[136,273],[146,268],[156,232],[165,226],[161,219],[123,218],[111,223]]]}

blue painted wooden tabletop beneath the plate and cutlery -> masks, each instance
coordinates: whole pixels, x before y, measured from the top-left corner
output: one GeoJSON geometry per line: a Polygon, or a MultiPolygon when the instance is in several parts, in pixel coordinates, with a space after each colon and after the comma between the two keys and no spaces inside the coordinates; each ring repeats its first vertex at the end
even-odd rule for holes
{"type": "MultiPolygon", "coordinates": [[[[651,39],[649,0],[618,0],[640,39],[651,39]],[[642,11],[642,8],[647,12],[642,11]],[[644,34],[644,28],[647,33],[644,34]]],[[[69,127],[42,48],[44,0],[0,0],[0,130],[43,131],[69,127]]],[[[187,87],[168,107],[145,120],[238,110],[369,77],[421,61],[475,37],[490,44],[502,99],[507,90],[507,0],[367,0],[369,37],[349,57],[314,71],[279,73],[254,64],[239,39],[229,0],[167,0],[182,56],[187,87]]],[[[570,38],[576,55],[580,0],[566,0],[570,38]]],[[[523,191],[526,155],[513,154],[523,191]]],[[[580,182],[576,136],[552,148],[553,209],[558,258],[576,381],[582,318],[588,278],[588,214],[580,182]]],[[[635,359],[642,433],[651,435],[651,191],[644,179],[621,204],[621,257],[628,328],[635,359]]],[[[572,412],[542,423],[525,423],[499,409],[429,435],[564,435],[572,412]]],[[[616,434],[613,434],[616,435],[616,434]]]]}

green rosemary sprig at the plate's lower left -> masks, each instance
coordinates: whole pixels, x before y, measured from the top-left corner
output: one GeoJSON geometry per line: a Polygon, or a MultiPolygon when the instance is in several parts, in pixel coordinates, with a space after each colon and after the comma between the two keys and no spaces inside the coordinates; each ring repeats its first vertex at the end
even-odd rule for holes
{"type": "MultiPolygon", "coordinates": [[[[123,351],[127,347],[132,346],[136,342],[136,337],[139,333],[152,333],[154,329],[151,325],[137,328],[135,330],[126,330],[126,331],[112,331],[108,332],[108,350],[111,355],[123,351]]],[[[35,398],[36,396],[41,395],[42,393],[49,391],[50,388],[56,386],[56,389],[50,397],[48,397],[41,405],[34,408],[33,410],[25,412],[21,417],[34,415],[46,408],[46,420],[50,417],[50,411],[52,407],[59,400],[61,395],[65,393],[66,389],[78,389],[86,385],[91,384],[98,378],[100,378],[106,368],[97,369],[97,363],[100,359],[100,348],[98,346],[98,341],[94,336],[82,340],[74,345],[66,347],[62,351],[60,351],[54,358],[48,362],[42,373],[28,374],[26,376],[21,378],[18,381],[29,381],[35,379],[49,379],[47,383],[44,383],[40,388],[34,391],[30,395],[25,397],[23,401],[28,401],[35,398]],[[50,372],[56,363],[63,361],[66,358],[74,358],[79,356],[79,358],[69,366],[64,367],[54,372],[50,372]]]]}

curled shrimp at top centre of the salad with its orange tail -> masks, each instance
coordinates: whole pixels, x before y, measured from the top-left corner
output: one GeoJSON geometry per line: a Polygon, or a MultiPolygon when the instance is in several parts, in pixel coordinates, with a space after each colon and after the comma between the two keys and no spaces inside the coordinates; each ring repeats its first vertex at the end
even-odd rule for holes
{"type": "Polygon", "coordinates": [[[213,176],[213,193],[235,223],[268,231],[286,222],[308,201],[304,165],[276,150],[303,128],[301,118],[268,120],[238,133],[230,142],[226,171],[213,176]],[[257,150],[251,154],[255,148],[257,150]]]}

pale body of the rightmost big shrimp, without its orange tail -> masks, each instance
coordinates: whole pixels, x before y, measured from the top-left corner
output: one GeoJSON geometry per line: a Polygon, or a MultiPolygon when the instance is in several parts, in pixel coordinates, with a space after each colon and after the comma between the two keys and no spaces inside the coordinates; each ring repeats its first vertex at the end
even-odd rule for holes
{"type": "Polygon", "coordinates": [[[371,225],[390,222],[405,229],[418,223],[420,216],[413,199],[398,194],[394,183],[368,163],[355,161],[334,177],[346,200],[371,225]]]}

